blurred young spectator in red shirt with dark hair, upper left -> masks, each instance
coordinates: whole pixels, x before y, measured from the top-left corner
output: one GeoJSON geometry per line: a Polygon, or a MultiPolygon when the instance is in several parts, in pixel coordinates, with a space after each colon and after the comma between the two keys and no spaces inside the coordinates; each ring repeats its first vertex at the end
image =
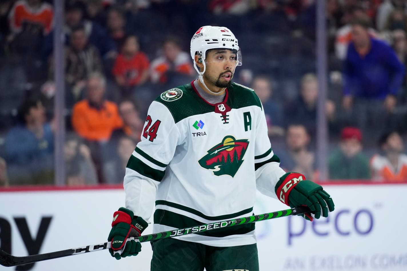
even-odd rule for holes
{"type": "Polygon", "coordinates": [[[147,81],[149,65],[147,56],[140,52],[138,38],[134,35],[128,36],[113,67],[116,83],[122,88],[124,96],[147,81]]]}

